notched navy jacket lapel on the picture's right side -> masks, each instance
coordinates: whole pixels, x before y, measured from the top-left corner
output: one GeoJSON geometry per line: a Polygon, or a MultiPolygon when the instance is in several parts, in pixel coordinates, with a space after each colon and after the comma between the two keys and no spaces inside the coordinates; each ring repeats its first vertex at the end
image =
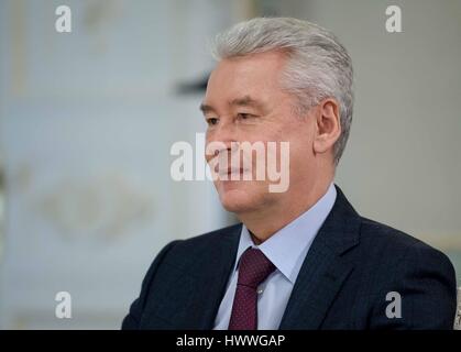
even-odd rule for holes
{"type": "Polygon", "coordinates": [[[359,243],[360,216],[337,188],[337,200],[299,271],[279,329],[318,329],[348,275],[342,254],[359,243]]]}

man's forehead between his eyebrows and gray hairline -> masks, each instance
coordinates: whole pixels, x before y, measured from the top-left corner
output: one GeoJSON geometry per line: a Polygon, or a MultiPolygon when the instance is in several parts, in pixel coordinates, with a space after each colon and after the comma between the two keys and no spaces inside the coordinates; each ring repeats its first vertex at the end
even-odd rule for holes
{"type": "Polygon", "coordinates": [[[264,97],[281,91],[279,78],[285,62],[286,55],[282,52],[222,59],[208,80],[206,101],[244,96],[265,100],[264,97]]]}

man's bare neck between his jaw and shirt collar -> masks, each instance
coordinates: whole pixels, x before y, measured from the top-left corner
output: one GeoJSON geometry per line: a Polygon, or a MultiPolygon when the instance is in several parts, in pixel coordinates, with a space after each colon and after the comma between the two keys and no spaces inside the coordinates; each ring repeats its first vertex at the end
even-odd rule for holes
{"type": "Polygon", "coordinates": [[[332,177],[310,185],[309,189],[292,190],[293,195],[286,194],[276,204],[239,213],[238,218],[249,229],[253,242],[260,244],[309,210],[327,193],[331,182],[332,177]]]}

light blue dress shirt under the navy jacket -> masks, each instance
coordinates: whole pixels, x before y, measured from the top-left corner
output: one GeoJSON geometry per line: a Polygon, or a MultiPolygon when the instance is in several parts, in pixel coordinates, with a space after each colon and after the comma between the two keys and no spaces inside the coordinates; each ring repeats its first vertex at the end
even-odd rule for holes
{"type": "Polygon", "coordinates": [[[235,265],[215,319],[216,330],[227,330],[239,277],[240,256],[249,248],[260,249],[276,270],[257,287],[257,329],[276,330],[295,285],[296,277],[318,230],[334,205],[333,183],[327,193],[306,212],[256,245],[245,226],[242,226],[235,265]]]}

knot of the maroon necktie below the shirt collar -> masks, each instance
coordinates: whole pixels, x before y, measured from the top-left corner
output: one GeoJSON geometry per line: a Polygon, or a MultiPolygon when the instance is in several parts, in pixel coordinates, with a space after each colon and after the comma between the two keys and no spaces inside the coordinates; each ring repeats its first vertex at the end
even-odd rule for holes
{"type": "Polygon", "coordinates": [[[274,270],[261,250],[250,248],[240,257],[238,285],[256,288],[274,270]]]}

